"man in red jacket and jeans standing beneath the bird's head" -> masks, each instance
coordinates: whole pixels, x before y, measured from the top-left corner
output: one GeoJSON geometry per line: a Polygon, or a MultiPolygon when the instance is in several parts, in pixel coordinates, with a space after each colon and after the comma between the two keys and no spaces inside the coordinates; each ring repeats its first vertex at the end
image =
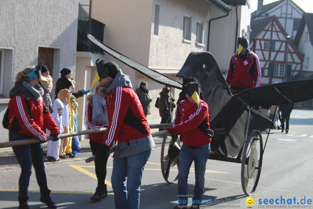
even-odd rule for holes
{"type": "Polygon", "coordinates": [[[203,203],[205,166],[210,154],[212,133],[209,123],[208,104],[199,99],[200,85],[197,82],[188,83],[185,87],[186,99],[179,102],[172,128],[166,128],[172,135],[182,133],[182,147],[179,157],[178,172],[178,205],[175,208],[199,208],[203,203]],[[187,197],[187,179],[189,169],[194,161],[196,183],[192,200],[187,197]]]}

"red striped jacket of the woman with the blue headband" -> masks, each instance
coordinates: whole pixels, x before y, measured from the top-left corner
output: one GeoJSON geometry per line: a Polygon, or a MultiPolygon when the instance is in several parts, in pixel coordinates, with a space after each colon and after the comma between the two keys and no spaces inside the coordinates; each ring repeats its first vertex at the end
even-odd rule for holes
{"type": "Polygon", "coordinates": [[[11,132],[44,140],[46,134],[41,128],[45,125],[51,134],[60,133],[57,124],[44,106],[42,97],[38,102],[25,94],[15,95],[11,97],[8,108],[10,121],[8,129],[11,132]]]}

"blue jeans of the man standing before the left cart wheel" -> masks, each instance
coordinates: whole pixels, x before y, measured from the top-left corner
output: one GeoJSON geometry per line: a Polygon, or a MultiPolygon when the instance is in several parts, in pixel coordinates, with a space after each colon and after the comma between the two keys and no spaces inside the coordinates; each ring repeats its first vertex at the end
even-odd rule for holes
{"type": "Polygon", "coordinates": [[[192,161],[195,165],[196,183],[192,200],[202,200],[204,191],[204,174],[205,165],[211,152],[210,144],[201,147],[190,148],[182,144],[179,152],[179,172],[178,172],[178,196],[177,200],[180,205],[187,205],[188,197],[188,175],[192,161]]]}

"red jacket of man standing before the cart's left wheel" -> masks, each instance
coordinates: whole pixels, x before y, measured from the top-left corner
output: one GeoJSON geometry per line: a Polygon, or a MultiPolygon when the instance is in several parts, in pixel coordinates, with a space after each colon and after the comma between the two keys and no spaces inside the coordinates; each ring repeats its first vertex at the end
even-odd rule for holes
{"type": "Polygon", "coordinates": [[[189,103],[187,98],[179,102],[173,121],[176,133],[182,133],[182,142],[193,147],[200,147],[211,143],[205,133],[210,128],[209,107],[200,99],[199,105],[189,103]]]}

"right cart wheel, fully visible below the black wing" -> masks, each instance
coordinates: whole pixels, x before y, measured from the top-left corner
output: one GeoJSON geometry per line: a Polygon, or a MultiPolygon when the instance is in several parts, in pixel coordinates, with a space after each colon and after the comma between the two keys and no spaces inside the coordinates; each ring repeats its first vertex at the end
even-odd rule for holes
{"type": "Polygon", "coordinates": [[[246,195],[252,195],[255,191],[262,167],[262,155],[263,155],[263,141],[259,130],[253,130],[246,143],[244,144],[244,150],[242,154],[241,162],[241,186],[246,195]],[[249,180],[253,179],[252,181],[249,180]]]}

